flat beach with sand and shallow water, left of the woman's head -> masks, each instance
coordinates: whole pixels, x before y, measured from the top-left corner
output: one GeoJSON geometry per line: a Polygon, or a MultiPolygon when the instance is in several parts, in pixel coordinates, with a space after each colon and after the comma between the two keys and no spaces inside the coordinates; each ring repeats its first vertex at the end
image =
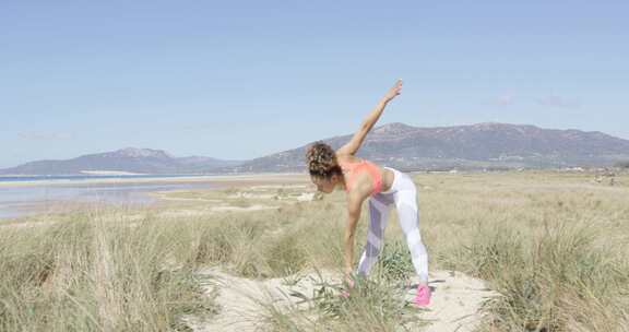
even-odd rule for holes
{"type": "MultiPolygon", "coordinates": [[[[78,179],[0,179],[0,220],[75,209],[78,205],[156,205],[173,201],[165,193],[250,186],[306,183],[304,174],[226,176],[107,177],[78,179]]],[[[181,200],[178,200],[181,201],[181,200]]]]}

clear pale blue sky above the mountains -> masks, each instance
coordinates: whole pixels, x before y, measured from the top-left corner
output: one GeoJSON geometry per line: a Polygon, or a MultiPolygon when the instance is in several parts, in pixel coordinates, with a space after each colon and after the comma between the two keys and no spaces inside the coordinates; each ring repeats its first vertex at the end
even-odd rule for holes
{"type": "Polygon", "coordinates": [[[629,139],[629,1],[0,1],[0,168],[245,159],[379,123],[629,139]]]}

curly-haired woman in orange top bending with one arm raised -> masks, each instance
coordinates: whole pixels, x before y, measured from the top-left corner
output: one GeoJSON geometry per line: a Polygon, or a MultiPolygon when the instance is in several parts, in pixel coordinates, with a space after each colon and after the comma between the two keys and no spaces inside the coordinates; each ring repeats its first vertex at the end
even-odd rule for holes
{"type": "Polygon", "coordinates": [[[354,259],[354,234],[360,218],[363,202],[369,201],[369,230],[367,246],[358,262],[358,275],[366,276],[382,248],[382,235],[387,226],[389,210],[395,206],[400,225],[406,237],[413,265],[419,276],[414,303],[427,306],[430,303],[428,287],[428,254],[422,242],[418,228],[417,191],[407,175],[354,156],[367,133],[380,118],[384,107],[402,90],[399,80],[384,95],[378,106],[367,116],[352,140],[336,152],[328,144],[317,142],[307,152],[307,163],[312,182],[319,191],[330,193],[341,187],[347,191],[347,225],[344,237],[345,276],[351,280],[354,259]]]}

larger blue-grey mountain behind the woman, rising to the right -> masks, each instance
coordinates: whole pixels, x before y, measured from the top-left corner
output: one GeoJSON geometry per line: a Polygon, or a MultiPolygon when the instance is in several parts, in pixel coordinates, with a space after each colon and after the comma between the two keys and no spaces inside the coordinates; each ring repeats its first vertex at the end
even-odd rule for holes
{"type": "MultiPolygon", "coordinates": [[[[351,138],[342,135],[322,141],[337,149],[351,138]]],[[[304,170],[308,145],[230,169],[304,170]]],[[[612,166],[629,161],[629,141],[598,131],[542,129],[529,124],[484,122],[419,128],[389,123],[369,133],[358,156],[404,170],[612,166]]]]}

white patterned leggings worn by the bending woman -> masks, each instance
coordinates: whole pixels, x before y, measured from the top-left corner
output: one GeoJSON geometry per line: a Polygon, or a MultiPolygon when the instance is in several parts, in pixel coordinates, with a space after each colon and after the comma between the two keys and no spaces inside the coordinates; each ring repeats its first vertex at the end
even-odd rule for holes
{"type": "Polygon", "coordinates": [[[428,282],[428,253],[419,234],[419,211],[417,210],[417,189],[411,177],[396,169],[385,167],[395,175],[391,189],[369,198],[369,230],[367,245],[358,263],[358,274],[367,275],[378,261],[382,249],[382,235],[389,220],[390,208],[395,204],[400,226],[406,237],[411,259],[419,281],[428,282]]]}

